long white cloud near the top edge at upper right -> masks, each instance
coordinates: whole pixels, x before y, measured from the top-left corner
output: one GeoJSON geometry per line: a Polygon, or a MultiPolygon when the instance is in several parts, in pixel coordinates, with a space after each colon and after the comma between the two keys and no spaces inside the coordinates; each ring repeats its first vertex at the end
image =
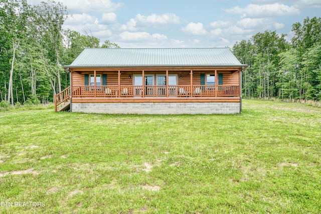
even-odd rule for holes
{"type": "Polygon", "coordinates": [[[284,4],[274,3],[269,5],[253,5],[250,4],[245,8],[238,6],[230,9],[223,9],[230,14],[241,15],[242,18],[263,18],[263,17],[281,17],[290,15],[299,15],[300,11],[293,6],[289,7],[284,4]]]}

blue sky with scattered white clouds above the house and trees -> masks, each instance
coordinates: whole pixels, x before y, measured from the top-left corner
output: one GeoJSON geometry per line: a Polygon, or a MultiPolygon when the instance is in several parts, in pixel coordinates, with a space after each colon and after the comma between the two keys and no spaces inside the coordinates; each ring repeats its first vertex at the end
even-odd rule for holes
{"type": "MultiPolygon", "coordinates": [[[[28,0],[37,5],[41,0],[28,0]]],[[[58,0],[56,0],[58,2],[58,0]]],[[[321,17],[321,0],[60,0],[63,28],[121,48],[230,47],[265,30],[293,37],[292,24],[321,17]]]]}

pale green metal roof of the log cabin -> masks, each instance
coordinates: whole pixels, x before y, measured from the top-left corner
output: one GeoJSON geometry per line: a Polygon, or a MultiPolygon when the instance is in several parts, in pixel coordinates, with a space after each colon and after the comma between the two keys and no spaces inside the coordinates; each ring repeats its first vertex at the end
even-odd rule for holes
{"type": "Polygon", "coordinates": [[[88,48],[65,68],[242,67],[228,48],[88,48]]]}

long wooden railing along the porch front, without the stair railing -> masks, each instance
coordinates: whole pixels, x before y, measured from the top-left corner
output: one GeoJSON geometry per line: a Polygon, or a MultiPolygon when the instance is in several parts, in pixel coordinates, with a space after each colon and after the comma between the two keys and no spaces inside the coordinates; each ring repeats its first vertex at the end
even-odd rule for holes
{"type": "Polygon", "coordinates": [[[176,85],[167,86],[73,86],[73,97],[215,97],[215,96],[239,96],[240,90],[238,85],[176,85]]]}

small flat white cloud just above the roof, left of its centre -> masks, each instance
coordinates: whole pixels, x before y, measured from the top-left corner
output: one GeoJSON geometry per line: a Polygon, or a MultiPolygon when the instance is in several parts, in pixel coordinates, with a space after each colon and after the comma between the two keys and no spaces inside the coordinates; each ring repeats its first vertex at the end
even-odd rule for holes
{"type": "Polygon", "coordinates": [[[167,36],[161,34],[150,35],[147,32],[122,32],[119,35],[122,41],[150,41],[150,40],[167,40],[167,36]]]}

